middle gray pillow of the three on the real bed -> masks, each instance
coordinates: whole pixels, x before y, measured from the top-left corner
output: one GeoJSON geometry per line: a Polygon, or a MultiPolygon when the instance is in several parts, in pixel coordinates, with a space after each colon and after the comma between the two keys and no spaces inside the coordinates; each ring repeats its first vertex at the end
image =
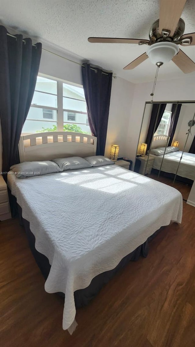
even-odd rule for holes
{"type": "Polygon", "coordinates": [[[54,163],[58,164],[60,171],[76,170],[90,168],[92,165],[79,156],[70,156],[69,158],[53,159],[54,163]]]}

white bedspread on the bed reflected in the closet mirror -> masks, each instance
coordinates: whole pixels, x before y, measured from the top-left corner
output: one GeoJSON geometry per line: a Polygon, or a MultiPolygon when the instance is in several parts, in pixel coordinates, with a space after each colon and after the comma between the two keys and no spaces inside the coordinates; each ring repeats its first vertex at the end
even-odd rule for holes
{"type": "Polygon", "coordinates": [[[176,174],[177,172],[177,175],[181,177],[186,177],[195,180],[195,154],[184,152],[179,165],[181,154],[181,151],[165,154],[163,163],[163,155],[156,156],[150,154],[154,158],[154,163],[152,167],[154,169],[160,170],[160,166],[162,163],[162,171],[170,172],[171,174],[176,174]],[[177,171],[178,165],[179,169],[177,171]]]}

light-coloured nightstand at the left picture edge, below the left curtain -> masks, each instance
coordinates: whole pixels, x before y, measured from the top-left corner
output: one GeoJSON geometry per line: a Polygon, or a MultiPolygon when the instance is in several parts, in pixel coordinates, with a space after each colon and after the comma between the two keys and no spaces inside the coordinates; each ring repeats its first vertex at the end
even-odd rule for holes
{"type": "Polygon", "coordinates": [[[11,218],[7,185],[0,175],[0,221],[11,218]]]}

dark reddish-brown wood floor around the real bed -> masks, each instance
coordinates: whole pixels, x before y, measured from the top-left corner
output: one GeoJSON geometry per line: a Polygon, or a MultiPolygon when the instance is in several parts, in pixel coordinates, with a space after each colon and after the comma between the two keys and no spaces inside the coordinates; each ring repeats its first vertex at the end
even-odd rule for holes
{"type": "Polygon", "coordinates": [[[0,222],[2,347],[194,347],[195,208],[150,243],[87,307],[72,336],[62,330],[63,299],[44,279],[17,219],[0,222]]]}

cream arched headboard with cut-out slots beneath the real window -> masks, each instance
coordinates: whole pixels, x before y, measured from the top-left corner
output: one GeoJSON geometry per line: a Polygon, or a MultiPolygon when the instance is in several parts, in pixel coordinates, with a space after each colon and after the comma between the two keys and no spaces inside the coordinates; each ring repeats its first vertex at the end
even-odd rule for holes
{"type": "Polygon", "coordinates": [[[20,162],[96,155],[97,138],[73,132],[36,133],[20,137],[20,162]]]}

